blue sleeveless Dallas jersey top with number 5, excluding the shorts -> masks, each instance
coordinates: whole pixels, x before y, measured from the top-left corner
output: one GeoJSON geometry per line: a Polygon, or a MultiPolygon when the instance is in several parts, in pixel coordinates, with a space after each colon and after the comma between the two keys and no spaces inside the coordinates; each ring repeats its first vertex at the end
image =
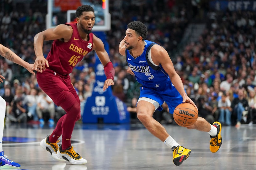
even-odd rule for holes
{"type": "Polygon", "coordinates": [[[161,64],[158,66],[153,63],[151,59],[151,47],[153,45],[155,45],[154,42],[145,40],[144,51],[136,58],[130,55],[129,50],[126,50],[126,61],[130,69],[134,72],[137,81],[143,87],[160,90],[166,86],[170,78],[161,64]]]}

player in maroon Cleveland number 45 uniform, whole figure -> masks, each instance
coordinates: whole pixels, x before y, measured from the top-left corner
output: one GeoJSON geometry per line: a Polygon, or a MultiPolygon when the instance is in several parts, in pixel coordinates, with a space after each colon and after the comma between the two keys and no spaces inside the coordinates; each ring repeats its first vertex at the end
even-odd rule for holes
{"type": "Polygon", "coordinates": [[[37,73],[39,87],[61,106],[66,114],[56,124],[52,134],[43,139],[41,147],[49,151],[53,158],[59,161],[69,161],[71,164],[86,164],[71,146],[71,135],[75,122],[80,119],[80,100],[71,84],[69,73],[76,64],[90,51],[95,50],[102,65],[106,80],[105,91],[114,85],[114,67],[104,49],[103,42],[91,33],[95,23],[94,9],[83,5],[76,9],[76,22],[60,24],[55,28],[44,30],[34,37],[35,63],[42,73],[37,73]],[[54,40],[47,58],[43,57],[43,41],[54,40]],[[58,138],[62,135],[62,144],[58,146],[58,138]]]}

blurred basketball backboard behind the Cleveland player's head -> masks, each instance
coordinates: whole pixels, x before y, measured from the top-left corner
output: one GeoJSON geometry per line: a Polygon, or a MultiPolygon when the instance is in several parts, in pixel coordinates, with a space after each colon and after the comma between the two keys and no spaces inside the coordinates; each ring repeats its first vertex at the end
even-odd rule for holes
{"type": "Polygon", "coordinates": [[[75,21],[76,8],[81,5],[90,5],[94,9],[95,25],[93,31],[108,31],[111,28],[109,14],[109,0],[48,0],[46,28],[53,28],[58,24],[75,21]]]}

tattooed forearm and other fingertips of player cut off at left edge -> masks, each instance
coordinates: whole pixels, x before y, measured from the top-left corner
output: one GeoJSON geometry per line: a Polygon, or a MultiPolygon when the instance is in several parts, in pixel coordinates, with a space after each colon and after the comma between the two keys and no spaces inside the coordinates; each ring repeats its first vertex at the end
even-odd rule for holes
{"type": "MultiPolygon", "coordinates": [[[[17,56],[13,51],[11,51],[9,48],[3,46],[2,44],[0,44],[0,55],[16,64],[23,66],[25,69],[27,69],[30,73],[32,73],[34,75],[35,75],[35,73],[33,70],[40,72],[40,70],[38,70],[38,69],[33,69],[33,64],[29,64],[28,62],[24,61],[19,56],[17,56]]],[[[3,76],[1,76],[1,78],[4,79],[3,76]]],[[[0,81],[3,82],[1,78],[0,78],[0,81]]]]}

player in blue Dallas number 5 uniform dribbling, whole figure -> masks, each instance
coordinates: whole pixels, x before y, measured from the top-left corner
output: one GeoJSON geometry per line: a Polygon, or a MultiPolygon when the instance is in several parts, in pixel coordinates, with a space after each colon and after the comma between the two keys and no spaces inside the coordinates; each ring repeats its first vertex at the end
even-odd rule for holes
{"type": "MultiPolygon", "coordinates": [[[[173,163],[179,166],[191,152],[177,143],[158,121],[153,118],[155,110],[162,110],[165,101],[173,113],[180,103],[195,103],[184,90],[180,76],[176,73],[167,51],[160,45],[145,40],[147,27],[138,21],[130,22],[126,36],[119,44],[119,53],[126,56],[128,73],[135,75],[142,84],[137,103],[137,117],[154,136],[159,138],[173,151],[173,163]]],[[[197,109],[197,107],[196,107],[197,109]]],[[[198,109],[197,109],[198,110],[198,109]]],[[[210,151],[217,152],[221,147],[221,124],[209,124],[204,118],[198,117],[195,124],[187,127],[210,134],[210,151]]]]}

